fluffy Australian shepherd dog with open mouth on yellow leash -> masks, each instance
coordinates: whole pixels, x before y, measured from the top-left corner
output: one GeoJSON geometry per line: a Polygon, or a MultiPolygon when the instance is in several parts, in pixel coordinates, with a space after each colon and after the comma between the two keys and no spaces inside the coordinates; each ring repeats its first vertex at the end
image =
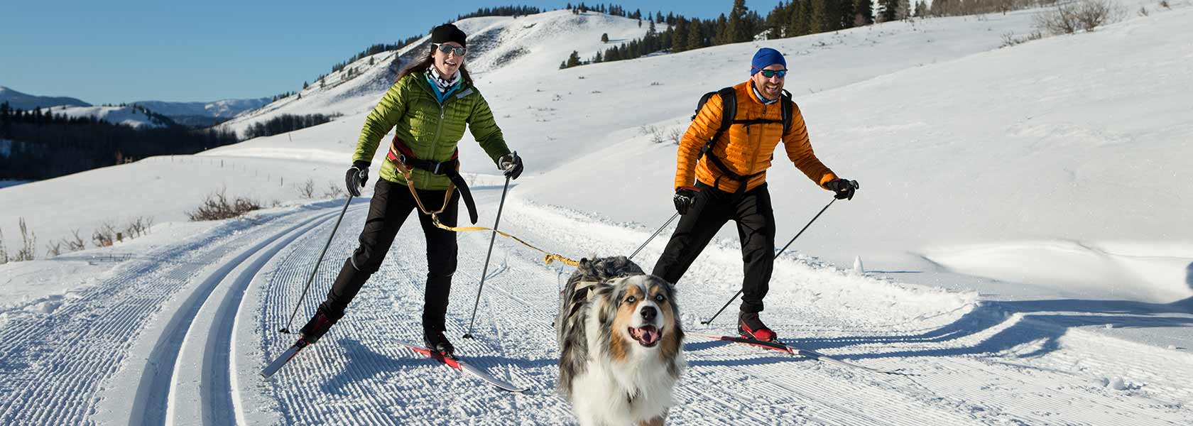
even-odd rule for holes
{"type": "Polygon", "coordinates": [[[662,425],[686,368],[670,283],[625,257],[583,259],[555,321],[560,393],[580,425],[662,425]]]}

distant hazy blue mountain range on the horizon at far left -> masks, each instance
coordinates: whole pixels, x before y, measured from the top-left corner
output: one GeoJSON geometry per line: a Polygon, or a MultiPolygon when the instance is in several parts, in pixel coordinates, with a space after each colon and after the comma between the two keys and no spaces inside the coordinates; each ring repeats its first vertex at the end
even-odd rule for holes
{"type": "MultiPolygon", "coordinates": [[[[224,99],[210,103],[169,103],[160,100],[141,100],[128,104],[141,105],[146,109],[169,117],[178,124],[205,128],[228,121],[245,111],[256,110],[270,103],[270,98],[256,99],[224,99]]],[[[39,97],[17,92],[12,88],[0,86],[0,103],[7,101],[12,107],[32,110],[35,107],[48,109],[51,106],[93,106],[86,101],[67,97],[39,97]]],[[[104,111],[75,109],[78,111],[104,111]]],[[[100,117],[105,118],[105,117],[100,117]]],[[[106,119],[106,118],[105,118],[106,119]]]]}

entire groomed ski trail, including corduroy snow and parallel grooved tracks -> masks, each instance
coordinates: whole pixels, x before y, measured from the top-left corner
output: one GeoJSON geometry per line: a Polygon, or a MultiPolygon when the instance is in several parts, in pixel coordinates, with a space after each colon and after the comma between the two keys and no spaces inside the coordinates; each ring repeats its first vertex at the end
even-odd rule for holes
{"type": "MultiPolygon", "coordinates": [[[[476,191],[482,211],[495,211],[499,191],[476,191]]],[[[291,328],[309,317],[356,247],[367,200],[360,203],[348,209],[291,328]]],[[[0,359],[13,371],[0,383],[6,395],[13,395],[0,400],[0,420],[94,422],[98,400],[119,395],[118,384],[111,383],[113,373],[131,368],[140,371],[141,383],[125,402],[132,406],[128,419],[134,424],[574,421],[555,389],[551,327],[565,273],[558,265],[544,266],[537,252],[499,240],[477,308],[476,339],[463,339],[489,234],[460,234],[447,322],[449,335],[468,362],[530,387],[525,394],[493,389],[396,342],[419,341],[421,333],[426,257],[413,217],[344,321],[272,379],[261,379],[255,371],[295,339],[277,329],[298,302],[338,214],[335,204],[222,224],[156,249],[148,255],[155,263],[128,261],[103,285],[51,314],[13,319],[0,329],[0,338],[10,342],[0,346],[0,359]],[[80,344],[47,345],[45,339],[80,344]],[[156,341],[150,356],[129,358],[134,341],[143,339],[156,341]],[[27,409],[32,407],[39,408],[27,409]]],[[[526,204],[507,210],[503,230],[569,257],[582,255],[575,253],[580,249],[622,253],[651,231],[610,233],[582,217],[561,218],[549,208],[526,204]]],[[[482,217],[481,224],[486,221],[492,217],[482,217]]],[[[663,243],[651,242],[636,260],[649,268],[663,243]]],[[[731,333],[731,314],[711,327],[694,326],[733,294],[733,283],[740,279],[734,276],[740,273],[735,264],[740,260],[731,243],[715,243],[709,251],[701,257],[704,265],[679,285],[685,326],[731,333]]],[[[690,337],[685,345],[690,368],[670,414],[675,424],[1185,425],[1191,418],[1189,409],[1175,402],[1191,393],[1177,383],[1180,377],[1193,377],[1187,353],[1081,329],[1058,332],[1030,315],[1005,314],[997,302],[938,307],[898,326],[876,326],[865,317],[855,322],[854,316],[864,313],[839,307],[832,297],[857,296],[791,284],[818,279],[808,276],[808,268],[787,258],[779,261],[767,298],[772,327],[797,346],[915,376],[878,375],[690,337]],[[805,302],[817,297],[820,303],[805,302]],[[1043,341],[1034,339],[1037,334],[1059,338],[1043,341]],[[1003,339],[1026,344],[1003,344],[1003,339]],[[1036,354],[1041,345],[1056,347],[1036,354]],[[1111,372],[1129,377],[1132,388],[1117,391],[1092,383],[1111,372]]],[[[827,279],[843,285],[837,280],[848,276],[840,277],[827,279]]]]}

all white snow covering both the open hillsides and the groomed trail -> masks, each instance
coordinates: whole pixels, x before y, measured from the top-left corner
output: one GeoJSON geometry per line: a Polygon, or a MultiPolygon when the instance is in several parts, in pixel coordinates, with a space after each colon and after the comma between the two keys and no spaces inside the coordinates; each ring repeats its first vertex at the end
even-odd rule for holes
{"type": "MultiPolygon", "coordinates": [[[[910,376],[690,337],[673,424],[1188,425],[1193,190],[1183,183],[1193,172],[1182,166],[1193,154],[1185,78],[1193,8],[1151,12],[1002,49],[1001,35],[1030,31],[1033,12],[567,70],[556,68],[568,53],[600,48],[605,30],[594,23],[625,26],[625,37],[636,23],[549,12],[460,25],[501,41],[470,61],[526,159],[501,228],[545,249],[629,254],[647,240],[673,214],[675,148],[653,142],[644,126],[681,130],[699,94],[743,80],[762,45],[787,54],[787,88],[818,156],[861,183],[777,261],[764,319],[802,347],[910,376]],[[519,49],[531,54],[497,60],[519,49]]],[[[76,228],[89,235],[101,218],[157,222],[115,247],[0,265],[8,296],[0,422],[574,422],[555,391],[551,328],[570,268],[497,241],[477,339],[453,341],[476,365],[531,388],[501,393],[394,342],[420,333],[426,258],[412,226],[341,323],[274,378],[258,376],[293,339],[277,329],[301,326],[356,247],[365,199],[348,208],[297,323],[288,325],[344,205],[299,200],[292,185],[313,179],[319,193],[340,180],[389,84],[389,61],[375,64],[230,124],[344,113],[320,126],[0,189],[10,251],[17,217],[38,241],[76,228]],[[284,203],[240,220],[183,222],[222,186],[284,203]]],[[[475,142],[460,147],[480,224],[492,223],[500,177],[475,142]]],[[[784,161],[768,180],[780,243],[830,199],[784,161]]],[[[738,245],[725,230],[678,283],[691,332],[734,332],[731,310],[699,325],[740,288],[738,245]]],[[[649,268],[666,234],[636,260],[649,268]]],[[[468,331],[489,235],[458,240],[455,337],[468,331]]]]}

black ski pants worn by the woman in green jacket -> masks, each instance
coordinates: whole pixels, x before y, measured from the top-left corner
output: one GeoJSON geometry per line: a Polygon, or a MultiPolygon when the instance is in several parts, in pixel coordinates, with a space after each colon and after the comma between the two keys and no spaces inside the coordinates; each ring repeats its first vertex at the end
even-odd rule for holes
{"type": "MultiPolygon", "coordinates": [[[[416,190],[422,205],[431,211],[439,210],[444,203],[445,191],[416,190]]],[[[447,208],[439,214],[439,222],[456,226],[459,192],[453,191],[447,208]]],[[[369,203],[369,216],[365,228],[360,231],[360,246],[344,263],[335,284],[327,292],[320,309],[333,321],[344,316],[344,309],[357,296],[369,277],[377,272],[385,253],[394,243],[397,230],[406,222],[410,211],[419,216],[422,235],[427,239],[427,286],[422,307],[424,329],[443,331],[447,315],[447,295],[451,292],[451,277],[456,273],[456,233],[439,229],[432,223],[431,215],[418,210],[419,205],[410,190],[404,184],[377,179],[373,186],[372,202],[369,203]]]]}

